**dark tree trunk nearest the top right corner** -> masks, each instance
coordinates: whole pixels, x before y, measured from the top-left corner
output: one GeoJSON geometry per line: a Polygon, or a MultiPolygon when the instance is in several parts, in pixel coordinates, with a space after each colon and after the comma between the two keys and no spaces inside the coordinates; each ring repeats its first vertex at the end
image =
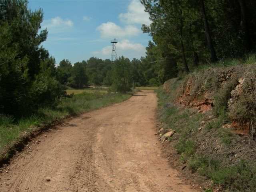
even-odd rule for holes
{"type": "Polygon", "coordinates": [[[248,24],[247,24],[247,19],[246,19],[246,3],[244,0],[238,0],[239,4],[240,4],[240,11],[241,11],[241,28],[244,32],[244,36],[245,36],[245,46],[246,49],[248,51],[251,50],[252,48],[252,44],[250,41],[250,34],[249,34],[249,30],[248,30],[248,24]]]}

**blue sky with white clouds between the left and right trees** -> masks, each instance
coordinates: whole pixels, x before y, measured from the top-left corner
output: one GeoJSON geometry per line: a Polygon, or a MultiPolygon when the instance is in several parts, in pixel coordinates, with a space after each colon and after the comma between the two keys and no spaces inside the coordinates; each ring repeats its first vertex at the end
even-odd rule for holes
{"type": "Polygon", "coordinates": [[[29,0],[32,10],[42,8],[42,28],[48,29],[44,48],[56,58],[72,63],[90,57],[111,58],[112,38],[117,54],[130,59],[145,55],[151,37],[142,24],[150,24],[139,0],[29,0]]]}

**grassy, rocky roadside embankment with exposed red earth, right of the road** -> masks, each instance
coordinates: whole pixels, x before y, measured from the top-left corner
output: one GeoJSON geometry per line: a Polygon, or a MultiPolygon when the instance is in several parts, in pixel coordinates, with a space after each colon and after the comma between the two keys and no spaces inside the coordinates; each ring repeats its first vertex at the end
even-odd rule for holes
{"type": "Polygon", "coordinates": [[[170,156],[206,191],[250,192],[256,188],[256,57],[223,62],[156,90],[161,133],[175,130],[170,156]],[[202,111],[204,105],[210,110],[202,111]]]}

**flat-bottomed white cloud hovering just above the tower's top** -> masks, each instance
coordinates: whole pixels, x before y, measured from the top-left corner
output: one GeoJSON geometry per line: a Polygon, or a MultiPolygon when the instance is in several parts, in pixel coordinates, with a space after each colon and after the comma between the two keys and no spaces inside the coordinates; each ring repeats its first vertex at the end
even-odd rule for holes
{"type": "Polygon", "coordinates": [[[126,36],[136,36],[141,32],[135,26],[128,25],[122,28],[113,22],[102,23],[98,26],[97,30],[100,31],[102,38],[123,38],[126,36]]]}

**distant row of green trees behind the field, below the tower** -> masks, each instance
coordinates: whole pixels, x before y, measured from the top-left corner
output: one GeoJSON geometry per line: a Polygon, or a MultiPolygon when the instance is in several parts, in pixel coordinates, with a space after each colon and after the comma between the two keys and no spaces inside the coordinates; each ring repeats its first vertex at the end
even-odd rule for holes
{"type": "Polygon", "coordinates": [[[144,58],[130,61],[124,56],[114,63],[109,59],[91,57],[87,61],[72,65],[69,60],[64,59],[56,68],[56,77],[62,85],[72,88],[104,85],[112,86],[115,91],[127,91],[133,86],[159,85],[156,74],[144,58]],[[118,85],[119,83],[123,85],[118,85]]]}

